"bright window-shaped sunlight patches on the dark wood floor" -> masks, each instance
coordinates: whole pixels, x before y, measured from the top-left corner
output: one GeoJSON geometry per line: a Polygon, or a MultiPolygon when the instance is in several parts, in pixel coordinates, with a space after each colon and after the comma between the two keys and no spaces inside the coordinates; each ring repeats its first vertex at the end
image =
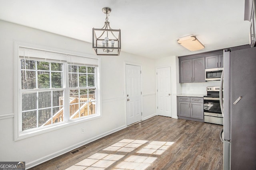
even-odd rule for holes
{"type": "Polygon", "coordinates": [[[116,164],[114,170],[145,170],[157,159],[157,157],[138,155],[128,156],[126,153],[135,150],[136,153],[145,155],[160,155],[172,144],[173,142],[123,139],[118,143],[103,149],[113,152],[121,152],[121,154],[96,153],[66,170],[104,170],[122,158],[124,159],[116,164]]]}

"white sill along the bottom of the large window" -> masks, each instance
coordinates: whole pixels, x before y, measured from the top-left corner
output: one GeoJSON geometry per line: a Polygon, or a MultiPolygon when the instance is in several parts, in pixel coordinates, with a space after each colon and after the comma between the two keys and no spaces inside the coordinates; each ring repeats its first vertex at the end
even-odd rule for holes
{"type": "Polygon", "coordinates": [[[62,128],[65,128],[65,127],[68,127],[68,126],[77,125],[79,123],[84,123],[86,121],[91,121],[91,120],[94,120],[94,119],[99,119],[100,117],[102,117],[100,114],[95,114],[95,115],[84,117],[84,118],[81,118],[81,119],[74,119],[74,120],[69,120],[67,122],[56,123],[54,125],[49,125],[49,126],[44,127],[42,129],[31,130],[31,131],[28,130],[28,131],[21,132],[21,133],[16,132],[16,135],[14,137],[14,141],[19,141],[19,140],[22,140],[22,139],[33,137],[33,136],[40,135],[40,134],[43,134],[43,133],[48,133],[48,132],[51,132],[51,131],[56,131],[58,129],[62,129],[62,128]]]}

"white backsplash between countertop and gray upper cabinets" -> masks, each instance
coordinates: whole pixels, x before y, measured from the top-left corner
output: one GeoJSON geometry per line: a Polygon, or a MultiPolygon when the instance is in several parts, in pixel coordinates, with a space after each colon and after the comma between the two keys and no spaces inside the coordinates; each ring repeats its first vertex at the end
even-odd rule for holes
{"type": "Polygon", "coordinates": [[[182,94],[206,94],[208,86],[220,86],[220,81],[208,81],[203,83],[181,83],[182,94]]]}

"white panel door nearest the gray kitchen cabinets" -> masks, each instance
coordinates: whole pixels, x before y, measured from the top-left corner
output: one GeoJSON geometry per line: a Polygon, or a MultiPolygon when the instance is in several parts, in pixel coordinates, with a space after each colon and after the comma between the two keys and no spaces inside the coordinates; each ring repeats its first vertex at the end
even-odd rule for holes
{"type": "Polygon", "coordinates": [[[171,68],[157,68],[157,113],[172,117],[171,68]]]}

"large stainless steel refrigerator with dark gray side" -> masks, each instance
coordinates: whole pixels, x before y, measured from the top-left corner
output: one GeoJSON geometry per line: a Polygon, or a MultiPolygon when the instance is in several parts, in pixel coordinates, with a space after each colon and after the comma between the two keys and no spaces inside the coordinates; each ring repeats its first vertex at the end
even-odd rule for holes
{"type": "Polygon", "coordinates": [[[256,170],[256,47],[224,50],[224,170],[256,170]]]}

